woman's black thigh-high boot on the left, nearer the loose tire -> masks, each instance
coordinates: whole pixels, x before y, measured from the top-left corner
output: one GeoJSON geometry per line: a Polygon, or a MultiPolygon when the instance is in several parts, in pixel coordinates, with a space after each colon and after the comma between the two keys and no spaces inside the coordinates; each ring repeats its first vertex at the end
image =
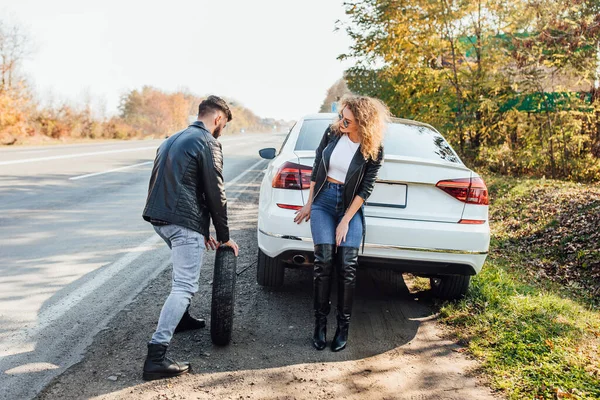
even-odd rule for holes
{"type": "Polygon", "coordinates": [[[313,270],[314,284],[314,309],[315,309],[315,332],[313,334],[313,346],[317,350],[323,350],[327,345],[327,315],[331,309],[329,294],[331,293],[331,279],[333,278],[333,251],[332,244],[315,245],[315,267],[313,270]]]}

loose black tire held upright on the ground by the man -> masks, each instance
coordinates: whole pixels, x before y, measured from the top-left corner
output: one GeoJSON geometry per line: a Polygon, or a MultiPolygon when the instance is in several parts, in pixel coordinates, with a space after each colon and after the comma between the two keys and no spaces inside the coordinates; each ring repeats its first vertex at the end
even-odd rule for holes
{"type": "Polygon", "coordinates": [[[215,256],[215,272],[210,311],[210,337],[219,346],[229,344],[233,330],[237,257],[232,247],[220,246],[215,256]]]}

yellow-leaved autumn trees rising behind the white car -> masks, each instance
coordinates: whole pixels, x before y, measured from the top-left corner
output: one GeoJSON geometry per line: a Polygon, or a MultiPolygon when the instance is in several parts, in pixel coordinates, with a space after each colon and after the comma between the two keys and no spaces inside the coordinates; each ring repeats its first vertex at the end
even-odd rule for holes
{"type": "Polygon", "coordinates": [[[598,63],[597,1],[361,0],[345,7],[353,45],[340,57],[356,61],[346,72],[353,92],[431,123],[464,158],[503,172],[570,176],[581,151],[589,155],[584,143],[566,157],[583,143],[574,132],[585,119],[577,114],[586,112],[582,103],[589,109],[581,92],[590,91],[598,63]],[[549,98],[566,105],[558,109],[549,98]],[[545,150],[556,135],[560,155],[545,150]]]}

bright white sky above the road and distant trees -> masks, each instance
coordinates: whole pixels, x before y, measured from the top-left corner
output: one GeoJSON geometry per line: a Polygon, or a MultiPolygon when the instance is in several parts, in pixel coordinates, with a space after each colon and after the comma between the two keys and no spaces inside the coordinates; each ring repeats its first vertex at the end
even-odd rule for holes
{"type": "Polygon", "coordinates": [[[350,66],[335,21],[343,0],[0,0],[33,52],[23,65],[38,98],[91,99],[114,115],[144,85],[235,99],[261,117],[317,112],[350,66]]]}

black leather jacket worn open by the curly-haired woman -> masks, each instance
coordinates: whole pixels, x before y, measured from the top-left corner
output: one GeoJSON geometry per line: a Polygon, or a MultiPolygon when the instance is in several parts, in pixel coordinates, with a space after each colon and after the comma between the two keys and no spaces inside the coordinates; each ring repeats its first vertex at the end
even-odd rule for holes
{"type": "MultiPolygon", "coordinates": [[[[317,195],[323,188],[325,181],[327,180],[327,170],[329,168],[329,160],[331,159],[331,153],[340,140],[340,136],[335,134],[331,127],[327,128],[319,147],[317,147],[315,154],[315,163],[313,165],[313,172],[311,175],[311,181],[315,182],[315,189],[313,192],[313,201],[317,198],[317,195]]],[[[366,202],[373,188],[375,187],[375,181],[377,180],[377,173],[381,168],[383,162],[383,146],[379,147],[379,154],[377,159],[365,160],[361,153],[361,147],[359,146],[354,158],[350,162],[348,167],[348,173],[346,174],[346,180],[344,182],[344,211],[350,207],[352,200],[357,195],[362,197],[366,202]]],[[[361,218],[363,220],[363,247],[366,235],[366,222],[364,213],[359,210],[361,218]]]]}

